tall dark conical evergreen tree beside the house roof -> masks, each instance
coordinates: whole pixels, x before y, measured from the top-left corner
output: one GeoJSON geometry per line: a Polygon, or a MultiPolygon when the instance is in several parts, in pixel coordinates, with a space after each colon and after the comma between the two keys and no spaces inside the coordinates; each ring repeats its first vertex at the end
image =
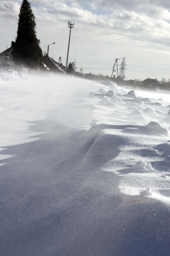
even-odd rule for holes
{"type": "Polygon", "coordinates": [[[20,7],[17,38],[11,54],[16,64],[32,68],[42,64],[43,55],[40,40],[37,39],[35,16],[28,0],[23,0],[20,7]]]}

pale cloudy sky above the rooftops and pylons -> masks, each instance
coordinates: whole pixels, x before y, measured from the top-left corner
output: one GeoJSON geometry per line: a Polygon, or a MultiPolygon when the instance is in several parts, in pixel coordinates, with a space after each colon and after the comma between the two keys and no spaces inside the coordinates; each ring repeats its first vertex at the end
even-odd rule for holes
{"type": "MultiPolygon", "coordinates": [[[[22,1],[0,0],[0,52],[17,35],[22,1]]],[[[111,76],[115,58],[129,79],[170,79],[169,0],[32,0],[42,51],[65,65],[68,21],[74,22],[68,61],[77,71],[111,76]]],[[[119,66],[120,68],[120,66],[119,66]]]]}

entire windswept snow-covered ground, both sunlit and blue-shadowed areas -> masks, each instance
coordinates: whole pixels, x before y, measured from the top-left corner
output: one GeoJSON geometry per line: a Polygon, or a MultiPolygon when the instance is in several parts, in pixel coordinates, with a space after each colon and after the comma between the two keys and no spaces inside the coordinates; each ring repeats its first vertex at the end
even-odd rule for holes
{"type": "Polygon", "coordinates": [[[170,97],[0,73],[0,255],[169,256],[170,97]]]}

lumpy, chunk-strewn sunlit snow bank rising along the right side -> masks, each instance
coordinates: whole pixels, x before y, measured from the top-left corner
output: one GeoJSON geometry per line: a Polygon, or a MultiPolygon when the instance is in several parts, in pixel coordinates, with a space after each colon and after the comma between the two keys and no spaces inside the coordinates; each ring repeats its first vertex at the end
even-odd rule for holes
{"type": "MultiPolygon", "coordinates": [[[[85,155],[82,166],[102,166],[102,170],[117,173],[122,177],[119,189],[126,195],[149,196],[170,203],[170,180],[165,181],[161,174],[161,171],[169,171],[167,164],[161,168],[161,163],[169,163],[168,157],[157,150],[158,145],[168,141],[169,103],[162,99],[136,97],[134,91],[125,94],[112,90],[112,95],[106,90],[97,93],[96,105],[105,103],[105,108],[97,108],[96,111],[95,107],[93,111],[91,125],[98,130],[98,136],[85,155]],[[131,167],[121,168],[131,163],[131,167]],[[168,194],[166,198],[160,192],[164,189],[164,195],[168,194]]],[[[96,94],[91,93],[90,96],[96,97],[96,94]]]]}

